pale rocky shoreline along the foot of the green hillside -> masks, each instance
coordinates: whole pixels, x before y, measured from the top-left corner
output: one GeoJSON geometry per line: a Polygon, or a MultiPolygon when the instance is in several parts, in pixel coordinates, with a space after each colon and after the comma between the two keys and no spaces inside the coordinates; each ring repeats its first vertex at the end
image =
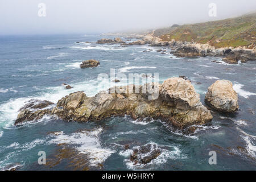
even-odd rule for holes
{"type": "MultiPolygon", "coordinates": [[[[138,39],[138,36],[134,36],[138,39]]],[[[225,63],[238,64],[239,61],[245,63],[246,61],[256,60],[256,48],[242,48],[242,47],[223,47],[215,48],[209,44],[200,44],[192,42],[182,42],[172,39],[171,41],[162,41],[159,37],[153,36],[153,34],[147,34],[139,36],[139,40],[134,42],[126,43],[121,38],[112,39],[100,39],[97,41],[98,44],[102,43],[120,43],[121,46],[133,46],[133,45],[144,45],[149,46],[164,46],[171,48],[171,52],[176,57],[204,57],[204,56],[221,56],[225,63]],[[118,41],[117,41],[118,40],[118,41]]]]}

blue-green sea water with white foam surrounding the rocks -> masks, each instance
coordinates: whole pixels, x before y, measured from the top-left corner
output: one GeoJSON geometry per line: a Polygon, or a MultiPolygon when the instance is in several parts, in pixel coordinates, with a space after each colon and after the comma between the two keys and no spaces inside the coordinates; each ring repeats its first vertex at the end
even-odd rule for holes
{"type": "MultiPolygon", "coordinates": [[[[0,169],[82,169],[81,164],[71,161],[72,156],[83,165],[86,163],[86,169],[256,169],[255,61],[226,65],[211,62],[220,57],[177,58],[148,45],[85,43],[100,38],[103,37],[0,36],[0,169]],[[152,51],[143,52],[147,49],[152,51]],[[81,61],[87,59],[99,60],[100,67],[80,69],[81,61]],[[213,113],[210,125],[192,135],[174,132],[160,120],[137,122],[129,116],[87,123],[44,117],[39,122],[14,126],[18,110],[31,99],[56,103],[79,90],[94,96],[100,91],[98,74],[109,75],[110,68],[127,77],[128,73],[158,73],[160,82],[168,77],[187,76],[194,81],[203,104],[208,86],[227,79],[238,93],[240,110],[232,115],[213,113]],[[64,82],[73,89],[64,89],[64,82]],[[162,154],[149,164],[133,165],[129,160],[132,149],[148,143],[155,144],[162,154]],[[126,144],[130,150],[123,148],[126,144]],[[54,165],[39,165],[39,151],[45,151],[47,160],[54,165]],[[208,163],[209,151],[217,152],[216,165],[208,163]],[[63,152],[65,155],[61,155],[63,152]]],[[[106,84],[101,86],[108,89],[106,84]]]]}

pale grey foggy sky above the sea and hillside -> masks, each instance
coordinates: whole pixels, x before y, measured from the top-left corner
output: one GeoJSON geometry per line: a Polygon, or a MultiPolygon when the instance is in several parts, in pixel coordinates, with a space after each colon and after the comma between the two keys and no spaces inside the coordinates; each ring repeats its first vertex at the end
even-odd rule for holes
{"type": "Polygon", "coordinates": [[[255,0],[0,0],[0,35],[93,34],[232,18],[256,10],[255,0]],[[38,4],[46,4],[46,17],[38,4]],[[216,3],[217,17],[208,15],[216,3]]]}

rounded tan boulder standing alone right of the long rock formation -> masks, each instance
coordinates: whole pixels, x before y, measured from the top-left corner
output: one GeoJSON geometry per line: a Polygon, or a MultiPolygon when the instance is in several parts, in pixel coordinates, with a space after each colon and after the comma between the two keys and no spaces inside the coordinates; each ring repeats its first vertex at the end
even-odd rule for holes
{"type": "Polygon", "coordinates": [[[214,110],[233,113],[238,109],[238,97],[233,89],[232,82],[228,80],[217,80],[209,86],[205,95],[205,104],[214,110]]]}

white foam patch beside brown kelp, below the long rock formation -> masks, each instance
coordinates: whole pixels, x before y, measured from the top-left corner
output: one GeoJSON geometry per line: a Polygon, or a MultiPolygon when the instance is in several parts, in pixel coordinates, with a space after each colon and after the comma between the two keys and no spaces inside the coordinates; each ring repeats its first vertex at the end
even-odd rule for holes
{"type": "Polygon", "coordinates": [[[69,143],[73,144],[75,149],[81,154],[87,154],[90,157],[90,165],[97,166],[109,158],[115,151],[110,148],[101,147],[99,134],[103,131],[102,127],[90,131],[81,131],[79,133],[54,135],[53,139],[49,140],[49,144],[69,143]]]}

